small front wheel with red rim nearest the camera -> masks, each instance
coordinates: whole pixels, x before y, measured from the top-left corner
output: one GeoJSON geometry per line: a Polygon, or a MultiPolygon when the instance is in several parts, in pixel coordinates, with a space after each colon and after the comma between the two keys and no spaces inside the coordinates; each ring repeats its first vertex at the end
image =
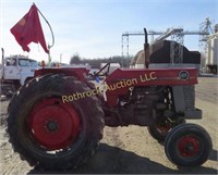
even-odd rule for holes
{"type": "Polygon", "coordinates": [[[211,138],[196,124],[174,127],[165,141],[168,159],[178,166],[197,166],[207,161],[211,152],[211,138]]]}

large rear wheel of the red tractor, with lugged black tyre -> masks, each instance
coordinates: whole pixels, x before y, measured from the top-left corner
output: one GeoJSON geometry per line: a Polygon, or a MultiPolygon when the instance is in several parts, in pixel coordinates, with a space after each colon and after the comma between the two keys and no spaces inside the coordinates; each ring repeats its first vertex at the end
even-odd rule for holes
{"type": "Polygon", "coordinates": [[[8,108],[8,132],[15,152],[44,170],[77,167],[102,138],[104,112],[95,96],[64,102],[88,91],[74,77],[50,74],[25,84],[8,108]],[[70,98],[69,98],[70,99],[70,98]]]}

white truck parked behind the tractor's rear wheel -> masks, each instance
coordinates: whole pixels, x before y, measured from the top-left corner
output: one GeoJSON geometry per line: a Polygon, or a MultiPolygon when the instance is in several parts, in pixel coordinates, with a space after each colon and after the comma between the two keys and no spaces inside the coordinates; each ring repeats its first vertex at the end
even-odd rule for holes
{"type": "Polygon", "coordinates": [[[2,64],[0,66],[1,95],[11,96],[20,86],[34,77],[39,68],[37,61],[24,55],[4,58],[2,49],[2,64]]]}

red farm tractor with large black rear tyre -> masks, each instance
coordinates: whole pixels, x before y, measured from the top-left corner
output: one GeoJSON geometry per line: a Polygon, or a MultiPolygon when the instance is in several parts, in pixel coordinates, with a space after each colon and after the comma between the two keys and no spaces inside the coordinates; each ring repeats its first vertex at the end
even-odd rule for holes
{"type": "Polygon", "coordinates": [[[104,68],[93,76],[86,68],[41,68],[20,88],[8,108],[8,133],[22,159],[45,170],[77,167],[95,153],[105,125],[140,125],[165,141],[172,163],[207,161],[208,133],[185,123],[202,118],[196,68],[118,68],[101,89],[92,80],[104,68]]]}

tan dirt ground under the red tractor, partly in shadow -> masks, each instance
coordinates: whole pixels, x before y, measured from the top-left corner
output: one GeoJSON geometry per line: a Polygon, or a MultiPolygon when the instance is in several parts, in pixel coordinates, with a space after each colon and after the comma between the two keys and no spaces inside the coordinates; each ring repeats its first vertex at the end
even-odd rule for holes
{"type": "Polygon", "coordinates": [[[164,146],[154,140],[145,127],[106,127],[97,153],[77,170],[41,172],[31,167],[14,153],[5,134],[5,113],[9,100],[1,100],[0,170],[1,174],[217,174],[218,161],[218,78],[201,77],[196,86],[196,107],[202,109],[201,121],[187,121],[205,127],[214,149],[209,160],[199,167],[178,168],[165,155],[164,146]]]}

